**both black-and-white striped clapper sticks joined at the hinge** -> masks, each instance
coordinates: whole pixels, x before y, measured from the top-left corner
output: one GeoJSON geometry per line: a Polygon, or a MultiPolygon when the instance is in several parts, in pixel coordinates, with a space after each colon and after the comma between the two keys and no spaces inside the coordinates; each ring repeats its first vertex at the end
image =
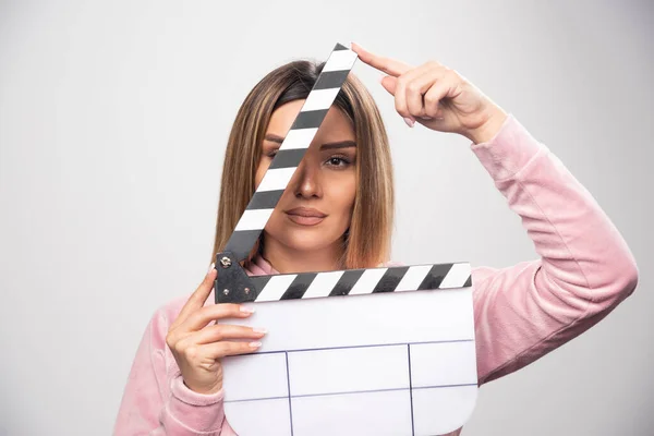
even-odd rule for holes
{"type": "Polygon", "coordinates": [[[249,277],[247,257],[306,149],[334,104],[356,53],[337,44],[300,113],[237,223],[225,252],[216,256],[216,303],[263,302],[470,287],[468,263],[413,265],[249,277]]]}

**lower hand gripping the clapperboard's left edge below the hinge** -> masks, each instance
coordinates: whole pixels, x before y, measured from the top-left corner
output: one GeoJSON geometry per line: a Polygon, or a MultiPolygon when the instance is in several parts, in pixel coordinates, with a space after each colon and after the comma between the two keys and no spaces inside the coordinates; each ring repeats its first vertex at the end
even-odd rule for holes
{"type": "Polygon", "coordinates": [[[258,339],[266,334],[263,329],[245,326],[209,325],[222,318],[246,318],[253,313],[239,304],[204,305],[217,274],[211,264],[203,282],[186,301],[166,336],[166,343],[182,372],[184,384],[198,393],[219,391],[222,388],[220,359],[255,351],[261,347],[258,339]]]}

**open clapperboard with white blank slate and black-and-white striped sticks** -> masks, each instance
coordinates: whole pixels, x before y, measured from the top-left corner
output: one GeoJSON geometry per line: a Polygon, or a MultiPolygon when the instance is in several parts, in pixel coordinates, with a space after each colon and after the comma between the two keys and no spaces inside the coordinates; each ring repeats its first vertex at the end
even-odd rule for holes
{"type": "Polygon", "coordinates": [[[240,265],[356,53],[337,44],[216,258],[216,303],[254,305],[268,335],[222,360],[225,412],[240,436],[440,435],[477,396],[468,263],[247,277],[240,265]]]}

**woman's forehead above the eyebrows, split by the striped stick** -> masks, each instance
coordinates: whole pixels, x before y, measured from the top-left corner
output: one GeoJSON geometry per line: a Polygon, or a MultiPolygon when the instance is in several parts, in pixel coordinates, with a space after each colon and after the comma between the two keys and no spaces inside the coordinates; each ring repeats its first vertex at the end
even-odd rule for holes
{"type": "MultiPolygon", "coordinates": [[[[298,117],[298,113],[300,113],[300,109],[302,109],[303,104],[304,100],[294,100],[277,108],[270,117],[266,133],[275,134],[281,137],[286,136],[288,131],[291,129],[295,117],[298,117]]],[[[343,114],[343,112],[332,105],[327,111],[327,116],[320,124],[320,129],[318,129],[316,137],[324,140],[347,138],[354,141],[354,129],[352,129],[352,124],[343,114]]]]}

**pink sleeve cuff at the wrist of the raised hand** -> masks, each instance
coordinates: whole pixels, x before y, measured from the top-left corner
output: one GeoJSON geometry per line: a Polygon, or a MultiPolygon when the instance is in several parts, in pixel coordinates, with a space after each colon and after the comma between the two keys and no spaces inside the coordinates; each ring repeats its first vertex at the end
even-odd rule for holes
{"type": "Polygon", "coordinates": [[[540,149],[547,147],[535,141],[512,114],[508,114],[491,141],[473,143],[470,148],[493,180],[500,181],[516,175],[540,149]]]}

